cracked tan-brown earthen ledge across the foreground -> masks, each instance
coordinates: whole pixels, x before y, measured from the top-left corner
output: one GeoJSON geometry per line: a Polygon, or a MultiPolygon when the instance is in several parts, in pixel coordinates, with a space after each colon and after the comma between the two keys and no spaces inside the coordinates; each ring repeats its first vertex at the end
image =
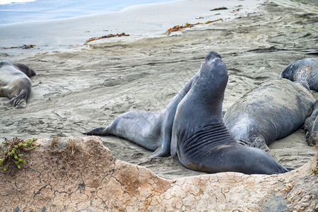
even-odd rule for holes
{"type": "Polygon", "coordinates": [[[39,139],[20,170],[0,171],[1,211],[317,211],[317,154],[282,175],[163,179],[112,156],[96,136],[39,139]],[[66,143],[75,141],[76,148],[66,143]],[[64,146],[64,147],[63,147],[64,146]]]}

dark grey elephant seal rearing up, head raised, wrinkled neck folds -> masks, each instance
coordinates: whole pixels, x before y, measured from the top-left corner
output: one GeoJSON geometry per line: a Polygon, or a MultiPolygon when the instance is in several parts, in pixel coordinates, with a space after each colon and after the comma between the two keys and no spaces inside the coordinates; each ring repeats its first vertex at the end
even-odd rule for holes
{"type": "Polygon", "coordinates": [[[271,155],[237,143],[222,118],[228,69],[221,59],[201,66],[196,84],[177,106],[171,155],[189,169],[216,173],[278,174],[288,172],[271,155]]]}

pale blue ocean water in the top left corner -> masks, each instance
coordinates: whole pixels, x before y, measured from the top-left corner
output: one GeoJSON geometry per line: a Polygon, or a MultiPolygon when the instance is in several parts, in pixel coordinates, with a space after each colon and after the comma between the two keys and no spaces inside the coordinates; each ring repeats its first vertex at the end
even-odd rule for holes
{"type": "Polygon", "coordinates": [[[167,1],[173,0],[0,0],[0,25],[111,13],[128,6],[167,1]]]}

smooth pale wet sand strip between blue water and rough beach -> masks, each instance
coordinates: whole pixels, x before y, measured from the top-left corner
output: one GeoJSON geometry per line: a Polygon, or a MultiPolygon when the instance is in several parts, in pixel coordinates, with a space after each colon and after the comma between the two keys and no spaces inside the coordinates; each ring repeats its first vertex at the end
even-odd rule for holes
{"type": "Polygon", "coordinates": [[[0,48],[7,48],[0,49],[0,60],[18,61],[36,54],[71,52],[85,48],[83,45],[90,37],[109,34],[129,34],[131,36],[124,39],[129,41],[144,37],[161,37],[175,25],[206,23],[208,20],[219,18],[226,20],[246,16],[247,13],[254,12],[262,2],[232,0],[218,3],[218,1],[208,0],[179,0],[129,6],[114,13],[0,25],[2,39],[0,48]],[[235,7],[239,5],[242,6],[235,7]],[[222,6],[227,6],[228,10],[210,11],[222,6]],[[196,19],[199,17],[202,19],[196,19]],[[35,45],[35,47],[19,48],[23,45],[35,45]]]}

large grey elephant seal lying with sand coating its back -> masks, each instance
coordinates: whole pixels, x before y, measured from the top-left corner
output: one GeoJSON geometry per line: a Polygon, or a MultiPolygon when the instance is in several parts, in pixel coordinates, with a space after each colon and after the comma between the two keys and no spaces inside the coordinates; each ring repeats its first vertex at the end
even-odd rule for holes
{"type": "Polygon", "coordinates": [[[223,119],[235,141],[264,150],[304,124],[314,97],[303,81],[278,78],[237,100],[223,119]]]}

